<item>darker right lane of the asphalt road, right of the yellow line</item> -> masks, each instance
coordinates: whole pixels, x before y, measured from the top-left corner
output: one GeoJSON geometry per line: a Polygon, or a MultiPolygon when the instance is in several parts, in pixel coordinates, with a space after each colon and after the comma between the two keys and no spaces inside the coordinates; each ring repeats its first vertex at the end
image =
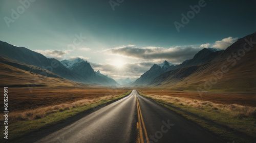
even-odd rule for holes
{"type": "Polygon", "coordinates": [[[198,125],[139,95],[137,91],[136,95],[149,138],[148,141],[168,143],[223,142],[223,140],[200,128],[198,125]]]}

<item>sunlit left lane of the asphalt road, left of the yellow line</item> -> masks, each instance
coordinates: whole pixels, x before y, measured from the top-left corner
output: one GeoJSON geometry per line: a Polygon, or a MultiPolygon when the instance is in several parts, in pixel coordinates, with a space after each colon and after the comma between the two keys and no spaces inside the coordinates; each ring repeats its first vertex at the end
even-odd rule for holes
{"type": "MultiPolygon", "coordinates": [[[[136,91],[37,142],[130,142],[136,124],[136,91]]],[[[135,129],[136,130],[136,129],[135,129]]]]}

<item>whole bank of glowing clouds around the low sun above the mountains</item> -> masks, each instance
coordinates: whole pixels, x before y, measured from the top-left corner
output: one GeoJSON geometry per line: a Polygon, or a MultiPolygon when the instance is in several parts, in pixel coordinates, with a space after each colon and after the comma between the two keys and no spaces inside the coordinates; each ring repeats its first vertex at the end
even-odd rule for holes
{"type": "MultiPolygon", "coordinates": [[[[150,69],[154,64],[162,63],[163,61],[168,61],[173,64],[180,64],[185,60],[192,59],[193,56],[203,48],[219,48],[226,49],[232,43],[236,42],[238,38],[224,38],[215,43],[206,43],[201,45],[189,45],[189,46],[175,46],[169,48],[163,47],[137,47],[136,45],[120,46],[115,48],[108,48],[102,51],[95,51],[94,54],[106,54],[111,55],[111,57],[122,57],[125,58],[125,63],[122,68],[117,68],[111,63],[111,59],[105,59],[107,61],[105,64],[90,62],[91,66],[95,71],[99,70],[102,74],[108,74],[114,79],[118,78],[138,78],[145,71],[150,69]],[[130,60],[129,60],[130,59],[130,60]],[[130,62],[131,59],[137,62],[130,62]]],[[[79,51],[93,51],[92,48],[80,48],[79,51]]],[[[76,59],[81,58],[85,61],[91,58],[84,57],[82,55],[69,56],[73,51],[71,50],[35,50],[41,54],[44,54],[48,58],[55,58],[57,60],[64,60],[65,58],[76,59]]],[[[100,59],[104,60],[104,59],[100,59]]]]}

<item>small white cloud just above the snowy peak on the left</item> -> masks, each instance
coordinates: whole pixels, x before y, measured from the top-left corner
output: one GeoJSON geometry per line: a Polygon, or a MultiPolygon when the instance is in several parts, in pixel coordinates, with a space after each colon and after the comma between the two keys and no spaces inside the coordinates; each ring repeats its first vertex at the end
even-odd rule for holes
{"type": "Polygon", "coordinates": [[[71,50],[34,50],[45,55],[47,58],[55,58],[57,60],[62,60],[71,50]]]}

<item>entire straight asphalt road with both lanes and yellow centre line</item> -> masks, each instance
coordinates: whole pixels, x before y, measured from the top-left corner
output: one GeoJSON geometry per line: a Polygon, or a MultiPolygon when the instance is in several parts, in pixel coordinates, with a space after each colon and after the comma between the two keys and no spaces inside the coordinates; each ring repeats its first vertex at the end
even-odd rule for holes
{"type": "Polygon", "coordinates": [[[141,143],[223,142],[176,113],[140,96],[136,90],[36,142],[123,143],[136,142],[137,139],[141,143]]]}

